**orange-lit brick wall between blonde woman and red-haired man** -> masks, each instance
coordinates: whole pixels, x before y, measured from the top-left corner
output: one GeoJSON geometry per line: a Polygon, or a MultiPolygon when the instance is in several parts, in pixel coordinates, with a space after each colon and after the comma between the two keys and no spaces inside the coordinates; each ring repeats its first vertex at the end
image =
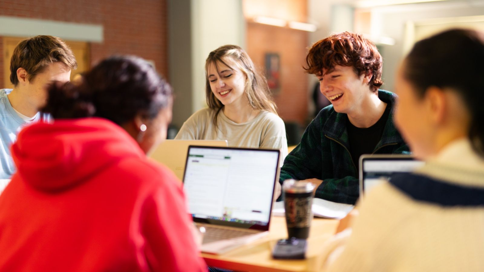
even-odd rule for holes
{"type": "Polygon", "coordinates": [[[247,19],[247,53],[259,69],[265,69],[265,54],[277,53],[280,60],[280,88],[274,94],[279,115],[284,121],[306,125],[308,115],[308,77],[302,65],[306,58],[309,34],[302,30],[280,28],[253,22],[262,15],[287,21],[307,20],[307,0],[243,0],[247,19]]]}

